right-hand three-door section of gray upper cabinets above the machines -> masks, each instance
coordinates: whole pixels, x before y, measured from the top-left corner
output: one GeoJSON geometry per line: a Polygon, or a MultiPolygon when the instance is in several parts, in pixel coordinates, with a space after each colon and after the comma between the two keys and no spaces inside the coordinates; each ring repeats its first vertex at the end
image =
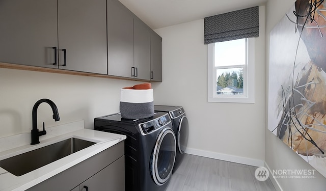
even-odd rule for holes
{"type": "Polygon", "coordinates": [[[160,36],[118,0],[107,0],[109,75],[161,81],[161,42],[160,36]]]}

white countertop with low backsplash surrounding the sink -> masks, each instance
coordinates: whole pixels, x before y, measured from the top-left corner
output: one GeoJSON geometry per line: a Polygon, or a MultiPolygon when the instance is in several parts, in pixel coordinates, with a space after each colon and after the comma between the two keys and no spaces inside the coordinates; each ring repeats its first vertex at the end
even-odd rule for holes
{"type": "Polygon", "coordinates": [[[40,144],[30,145],[31,133],[22,133],[0,138],[0,160],[40,147],[51,145],[69,138],[78,138],[96,144],[70,154],[21,176],[15,176],[0,167],[0,190],[25,190],[55,176],[91,156],[110,148],[126,139],[125,135],[96,131],[84,128],[84,121],[77,121],[56,127],[45,128],[46,135],[40,138],[40,144]]]}

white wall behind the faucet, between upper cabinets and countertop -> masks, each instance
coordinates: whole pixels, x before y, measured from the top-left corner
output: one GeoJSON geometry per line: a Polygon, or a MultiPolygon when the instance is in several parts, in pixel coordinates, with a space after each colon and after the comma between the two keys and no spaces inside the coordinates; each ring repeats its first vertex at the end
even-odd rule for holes
{"type": "MultiPolygon", "coordinates": [[[[139,83],[139,82],[138,82],[139,83]]],[[[94,118],[119,112],[120,88],[135,81],[23,71],[0,68],[0,138],[32,129],[32,108],[41,98],[56,103],[61,120],[52,119],[49,105],[38,110],[38,127],[85,120],[94,128],[94,118]]]]}

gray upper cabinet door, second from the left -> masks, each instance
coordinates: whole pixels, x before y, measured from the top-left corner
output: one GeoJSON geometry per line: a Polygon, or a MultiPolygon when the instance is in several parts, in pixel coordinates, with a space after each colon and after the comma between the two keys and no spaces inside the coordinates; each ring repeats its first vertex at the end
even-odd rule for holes
{"type": "Polygon", "coordinates": [[[58,29],[59,68],[107,74],[105,0],[58,0],[58,29]]]}

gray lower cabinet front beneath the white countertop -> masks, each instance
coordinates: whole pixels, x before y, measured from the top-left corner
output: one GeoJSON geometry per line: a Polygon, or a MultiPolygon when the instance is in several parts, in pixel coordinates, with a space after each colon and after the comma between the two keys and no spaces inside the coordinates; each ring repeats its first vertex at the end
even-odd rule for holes
{"type": "Polygon", "coordinates": [[[124,141],[28,189],[124,191],[124,141]],[[86,186],[86,187],[85,187],[86,186]]]}

